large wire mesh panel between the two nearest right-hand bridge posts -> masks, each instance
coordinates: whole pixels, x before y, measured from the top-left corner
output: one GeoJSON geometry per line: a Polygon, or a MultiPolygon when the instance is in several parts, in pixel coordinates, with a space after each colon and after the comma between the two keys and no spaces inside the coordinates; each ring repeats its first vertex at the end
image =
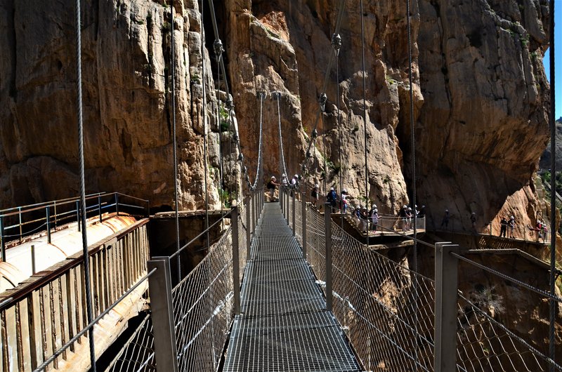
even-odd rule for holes
{"type": "Polygon", "coordinates": [[[433,371],[434,284],[332,221],[334,314],[368,370],[433,371]]]}

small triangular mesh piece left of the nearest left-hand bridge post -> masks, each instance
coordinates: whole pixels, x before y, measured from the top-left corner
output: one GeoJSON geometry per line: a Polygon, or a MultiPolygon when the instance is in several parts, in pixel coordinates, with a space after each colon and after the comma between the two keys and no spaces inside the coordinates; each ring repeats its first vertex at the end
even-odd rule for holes
{"type": "Polygon", "coordinates": [[[136,331],[126,340],[107,372],[152,372],[156,371],[154,335],[150,314],[141,321],[136,331]]]}

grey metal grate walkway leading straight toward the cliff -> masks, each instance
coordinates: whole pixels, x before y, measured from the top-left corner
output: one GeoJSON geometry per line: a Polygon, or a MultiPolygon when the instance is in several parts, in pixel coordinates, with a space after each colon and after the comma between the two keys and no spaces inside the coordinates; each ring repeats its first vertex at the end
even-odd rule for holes
{"type": "Polygon", "coordinates": [[[263,208],[223,371],[360,371],[279,204],[263,208]]]}

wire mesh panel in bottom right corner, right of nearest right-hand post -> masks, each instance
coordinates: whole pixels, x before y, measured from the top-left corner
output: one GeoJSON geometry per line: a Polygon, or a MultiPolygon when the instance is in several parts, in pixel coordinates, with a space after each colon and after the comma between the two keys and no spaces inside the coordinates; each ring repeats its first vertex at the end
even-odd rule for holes
{"type": "MultiPolygon", "coordinates": [[[[535,345],[495,320],[480,303],[459,295],[457,305],[457,371],[550,371],[549,359],[535,345]]],[[[552,366],[562,371],[558,364],[552,366]]]]}

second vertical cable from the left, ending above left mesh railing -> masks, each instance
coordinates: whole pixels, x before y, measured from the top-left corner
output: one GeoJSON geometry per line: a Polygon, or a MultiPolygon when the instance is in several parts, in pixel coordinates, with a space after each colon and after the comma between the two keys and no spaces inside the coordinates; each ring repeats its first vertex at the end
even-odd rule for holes
{"type": "MultiPolygon", "coordinates": [[[[171,75],[171,121],[172,121],[172,143],[174,146],[174,201],[176,203],[176,212],[174,217],[176,220],[176,251],[180,250],[180,218],[179,218],[179,204],[178,204],[178,143],[176,138],[176,82],[175,73],[176,67],[174,61],[176,55],[174,54],[174,27],[176,24],[176,17],[174,16],[174,0],[170,1],[170,17],[171,17],[171,55],[170,55],[170,75],[171,75]]],[[[181,278],[181,258],[178,258],[178,278],[181,278]]]]}

